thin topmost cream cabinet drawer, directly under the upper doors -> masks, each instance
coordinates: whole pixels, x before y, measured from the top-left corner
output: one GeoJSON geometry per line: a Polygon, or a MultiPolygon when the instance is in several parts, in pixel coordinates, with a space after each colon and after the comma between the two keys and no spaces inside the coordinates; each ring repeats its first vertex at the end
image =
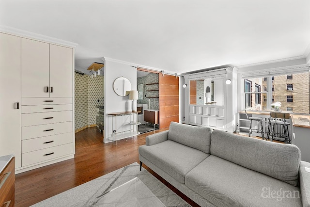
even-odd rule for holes
{"type": "Polygon", "coordinates": [[[21,105],[72,104],[72,97],[65,98],[21,98],[21,105]]]}

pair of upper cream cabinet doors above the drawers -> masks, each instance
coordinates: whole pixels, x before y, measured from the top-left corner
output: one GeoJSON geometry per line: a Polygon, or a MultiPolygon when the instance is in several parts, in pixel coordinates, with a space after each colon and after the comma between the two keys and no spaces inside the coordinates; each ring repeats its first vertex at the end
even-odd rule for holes
{"type": "Polygon", "coordinates": [[[21,39],[21,96],[72,97],[72,48],[21,39]]]}

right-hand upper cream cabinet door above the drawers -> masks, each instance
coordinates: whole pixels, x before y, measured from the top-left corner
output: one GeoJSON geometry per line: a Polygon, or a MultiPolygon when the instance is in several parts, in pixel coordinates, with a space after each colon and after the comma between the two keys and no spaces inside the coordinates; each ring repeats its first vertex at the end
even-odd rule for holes
{"type": "Polygon", "coordinates": [[[50,97],[72,97],[72,48],[50,45],[50,97]]]}

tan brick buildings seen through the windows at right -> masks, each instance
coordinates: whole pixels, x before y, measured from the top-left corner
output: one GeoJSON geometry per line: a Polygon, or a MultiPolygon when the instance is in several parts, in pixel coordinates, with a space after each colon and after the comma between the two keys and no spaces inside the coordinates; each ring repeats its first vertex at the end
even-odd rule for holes
{"type": "Polygon", "coordinates": [[[309,114],[310,73],[245,79],[244,94],[245,108],[251,110],[270,110],[271,105],[267,103],[280,102],[281,111],[309,114]],[[269,82],[272,87],[268,90],[269,82]]]}

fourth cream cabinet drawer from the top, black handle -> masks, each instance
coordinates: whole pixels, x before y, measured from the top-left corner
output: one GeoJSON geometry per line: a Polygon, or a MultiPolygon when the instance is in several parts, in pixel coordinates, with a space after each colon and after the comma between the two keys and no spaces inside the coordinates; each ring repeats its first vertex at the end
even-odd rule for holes
{"type": "Polygon", "coordinates": [[[31,138],[45,137],[55,134],[63,134],[72,131],[73,131],[72,122],[21,127],[21,139],[27,140],[31,138]]]}

